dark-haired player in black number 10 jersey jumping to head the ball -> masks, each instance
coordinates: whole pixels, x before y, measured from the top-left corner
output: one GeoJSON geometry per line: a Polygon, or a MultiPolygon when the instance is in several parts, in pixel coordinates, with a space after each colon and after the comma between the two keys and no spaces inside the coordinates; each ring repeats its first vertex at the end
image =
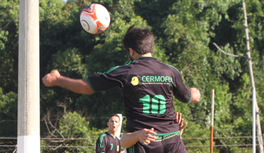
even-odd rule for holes
{"type": "Polygon", "coordinates": [[[124,65],[105,73],[94,72],[86,80],[70,79],[53,70],[44,76],[43,83],[85,94],[119,86],[127,118],[127,133],[121,138],[121,147],[128,148],[128,152],[186,152],[176,122],[173,95],[181,102],[197,103],[200,92],[185,86],[178,69],[152,57],[154,36],[149,29],[129,27],[122,44],[131,60],[124,65]],[[137,131],[143,131],[141,136],[137,131]]]}

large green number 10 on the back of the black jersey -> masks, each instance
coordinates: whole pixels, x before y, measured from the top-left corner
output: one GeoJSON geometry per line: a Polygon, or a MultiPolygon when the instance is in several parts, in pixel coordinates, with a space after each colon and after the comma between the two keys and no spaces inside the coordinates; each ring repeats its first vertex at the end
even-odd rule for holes
{"type": "Polygon", "coordinates": [[[150,112],[151,114],[164,114],[166,112],[166,99],[164,95],[155,95],[153,98],[150,98],[150,95],[145,95],[139,101],[143,102],[143,114],[150,114],[150,112]]]}

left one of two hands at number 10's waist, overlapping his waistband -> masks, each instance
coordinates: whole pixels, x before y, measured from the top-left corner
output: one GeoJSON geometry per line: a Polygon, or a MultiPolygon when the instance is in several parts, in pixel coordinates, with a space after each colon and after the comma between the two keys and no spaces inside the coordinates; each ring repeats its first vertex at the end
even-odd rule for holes
{"type": "Polygon", "coordinates": [[[143,145],[148,145],[150,142],[154,142],[157,139],[157,136],[154,135],[157,135],[157,133],[154,132],[154,128],[144,128],[142,131],[139,131],[138,139],[143,145]]]}

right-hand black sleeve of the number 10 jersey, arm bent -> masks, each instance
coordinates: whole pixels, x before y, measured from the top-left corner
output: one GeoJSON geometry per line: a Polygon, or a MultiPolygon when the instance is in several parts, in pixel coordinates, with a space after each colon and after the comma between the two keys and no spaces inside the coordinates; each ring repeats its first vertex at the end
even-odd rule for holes
{"type": "Polygon", "coordinates": [[[192,93],[183,83],[183,76],[178,72],[178,69],[173,69],[175,75],[173,95],[181,102],[189,103],[192,100],[192,93]]]}

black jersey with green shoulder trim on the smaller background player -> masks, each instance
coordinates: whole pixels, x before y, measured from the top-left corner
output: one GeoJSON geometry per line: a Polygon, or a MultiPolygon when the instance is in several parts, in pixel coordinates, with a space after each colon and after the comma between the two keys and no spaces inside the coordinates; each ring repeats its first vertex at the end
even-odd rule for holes
{"type": "Polygon", "coordinates": [[[117,153],[121,152],[120,141],[116,137],[114,138],[109,133],[105,132],[103,135],[100,135],[96,141],[96,153],[117,153]]]}

